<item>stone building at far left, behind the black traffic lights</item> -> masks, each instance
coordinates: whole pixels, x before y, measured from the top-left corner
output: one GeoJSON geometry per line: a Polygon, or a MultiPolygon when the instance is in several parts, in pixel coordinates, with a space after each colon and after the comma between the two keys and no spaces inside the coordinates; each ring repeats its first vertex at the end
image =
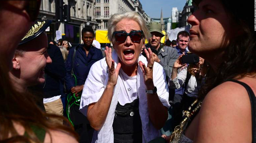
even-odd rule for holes
{"type": "Polygon", "coordinates": [[[47,31],[48,40],[56,41],[56,30],[70,43],[81,43],[81,30],[85,25],[94,29],[98,26],[95,19],[93,0],[63,0],[64,5],[70,5],[70,22],[60,23],[55,21],[55,0],[41,0],[38,19],[53,20],[47,31]]]}

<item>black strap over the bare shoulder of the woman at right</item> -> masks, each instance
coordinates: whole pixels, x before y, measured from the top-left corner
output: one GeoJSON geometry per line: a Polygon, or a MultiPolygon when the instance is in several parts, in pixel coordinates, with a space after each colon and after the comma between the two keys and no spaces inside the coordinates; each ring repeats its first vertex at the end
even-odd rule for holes
{"type": "Polygon", "coordinates": [[[238,80],[227,80],[227,81],[232,81],[236,82],[238,84],[241,84],[246,90],[250,98],[251,102],[251,112],[252,112],[252,143],[256,143],[256,97],[249,85],[247,85],[244,82],[238,81],[238,80]]]}

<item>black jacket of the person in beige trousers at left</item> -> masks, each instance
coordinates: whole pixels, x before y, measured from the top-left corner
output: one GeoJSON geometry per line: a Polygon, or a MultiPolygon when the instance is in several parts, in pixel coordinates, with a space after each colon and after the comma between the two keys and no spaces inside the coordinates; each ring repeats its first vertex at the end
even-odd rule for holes
{"type": "Polygon", "coordinates": [[[61,95],[60,79],[65,77],[66,69],[61,50],[58,46],[49,44],[47,52],[52,64],[45,67],[44,98],[61,95]]]}

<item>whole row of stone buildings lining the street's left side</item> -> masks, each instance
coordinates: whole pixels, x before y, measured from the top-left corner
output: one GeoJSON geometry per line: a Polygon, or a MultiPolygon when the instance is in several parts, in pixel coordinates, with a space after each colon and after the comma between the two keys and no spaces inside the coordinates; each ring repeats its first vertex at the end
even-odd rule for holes
{"type": "Polygon", "coordinates": [[[70,22],[56,22],[55,0],[41,0],[39,20],[53,20],[47,30],[48,40],[56,39],[56,30],[71,44],[81,43],[81,30],[84,26],[92,26],[94,30],[107,30],[108,19],[115,13],[136,11],[146,22],[150,17],[142,9],[139,0],[63,0],[70,5],[70,22]]]}

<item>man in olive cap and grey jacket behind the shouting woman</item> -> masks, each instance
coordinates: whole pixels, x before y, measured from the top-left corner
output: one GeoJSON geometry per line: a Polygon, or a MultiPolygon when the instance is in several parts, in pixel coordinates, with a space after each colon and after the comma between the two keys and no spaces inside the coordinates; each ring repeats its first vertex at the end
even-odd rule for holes
{"type": "Polygon", "coordinates": [[[168,81],[168,77],[173,69],[173,64],[178,58],[177,51],[174,48],[165,46],[161,43],[161,38],[165,35],[161,31],[162,25],[160,23],[150,22],[147,27],[152,35],[152,37],[148,40],[150,47],[157,50],[157,54],[153,53],[155,62],[158,62],[161,66],[163,66],[166,79],[168,81]]]}

